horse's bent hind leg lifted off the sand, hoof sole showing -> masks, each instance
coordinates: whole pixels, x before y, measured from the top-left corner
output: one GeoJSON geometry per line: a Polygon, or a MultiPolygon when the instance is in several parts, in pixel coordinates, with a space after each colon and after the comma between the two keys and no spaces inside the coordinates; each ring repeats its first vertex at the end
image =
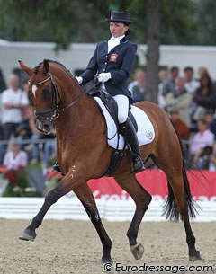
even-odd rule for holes
{"type": "Polygon", "coordinates": [[[130,243],[130,251],[134,258],[139,260],[144,252],[142,244],[137,243],[139,225],[152,198],[148,191],[139,184],[139,181],[137,181],[134,174],[127,172],[121,175],[115,175],[114,178],[121,188],[130,194],[136,204],[136,211],[132,218],[127,236],[130,243]]]}

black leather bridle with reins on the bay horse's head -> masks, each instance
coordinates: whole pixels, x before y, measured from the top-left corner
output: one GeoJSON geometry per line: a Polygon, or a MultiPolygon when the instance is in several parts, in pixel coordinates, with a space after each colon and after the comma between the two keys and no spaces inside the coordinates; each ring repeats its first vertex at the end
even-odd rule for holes
{"type": "Polygon", "coordinates": [[[28,84],[31,85],[40,85],[43,84],[47,81],[51,81],[51,91],[52,91],[52,107],[51,109],[48,110],[41,110],[41,111],[35,111],[35,115],[37,119],[45,119],[48,120],[49,122],[53,122],[53,119],[57,119],[60,116],[60,113],[65,112],[69,108],[71,108],[73,105],[76,104],[88,91],[85,91],[81,93],[73,102],[70,102],[66,107],[59,109],[58,106],[58,97],[60,98],[60,93],[58,92],[58,86],[56,82],[54,81],[52,75],[50,72],[48,73],[49,77],[46,78],[45,80],[38,82],[38,83],[31,83],[28,81],[28,84]]]}

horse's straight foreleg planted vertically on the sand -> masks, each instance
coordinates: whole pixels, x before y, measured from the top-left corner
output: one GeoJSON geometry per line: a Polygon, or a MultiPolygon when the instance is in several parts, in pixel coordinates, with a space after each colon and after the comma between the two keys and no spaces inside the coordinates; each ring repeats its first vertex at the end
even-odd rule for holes
{"type": "Polygon", "coordinates": [[[76,190],[74,190],[74,192],[76,193],[76,196],[78,197],[78,199],[80,199],[80,201],[82,202],[88,217],[92,221],[101,239],[101,242],[103,245],[102,261],[112,262],[112,259],[111,259],[112,242],[103,227],[92,191],[89,189],[88,185],[85,183],[85,184],[82,184],[76,190]]]}

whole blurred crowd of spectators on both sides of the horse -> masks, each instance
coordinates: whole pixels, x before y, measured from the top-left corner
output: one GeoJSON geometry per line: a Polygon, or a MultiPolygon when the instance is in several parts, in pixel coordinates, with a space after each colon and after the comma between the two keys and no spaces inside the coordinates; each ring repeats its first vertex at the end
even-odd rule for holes
{"type": "MultiPolygon", "coordinates": [[[[170,116],[184,141],[184,149],[192,159],[191,168],[216,170],[216,84],[206,67],[198,69],[197,77],[191,66],[181,73],[177,66],[159,71],[158,105],[170,116]]],[[[146,84],[144,70],[136,70],[134,81],[129,84],[134,102],[145,101],[146,84]]],[[[0,143],[0,165],[38,163],[46,175],[50,158],[55,158],[55,142],[39,142],[46,136],[35,126],[28,83],[21,86],[17,75],[10,75],[8,89],[0,94],[0,108],[0,140],[9,144],[13,140],[13,146],[0,143]]],[[[50,138],[55,138],[55,131],[50,138]]]]}

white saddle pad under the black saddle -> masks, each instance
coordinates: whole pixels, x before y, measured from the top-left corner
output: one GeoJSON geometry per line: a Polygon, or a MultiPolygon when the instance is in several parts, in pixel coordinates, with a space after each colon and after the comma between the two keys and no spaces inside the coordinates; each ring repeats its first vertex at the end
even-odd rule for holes
{"type": "MultiPolygon", "coordinates": [[[[115,122],[112,119],[108,110],[106,110],[101,99],[99,97],[94,97],[94,100],[99,104],[99,106],[103,110],[103,115],[106,120],[107,131],[108,131],[107,132],[108,145],[113,148],[116,148],[118,145],[118,135],[116,134],[117,128],[116,128],[115,122]]],[[[139,140],[139,146],[143,146],[151,143],[155,138],[155,130],[153,128],[152,123],[148,119],[148,116],[143,110],[140,110],[139,108],[135,106],[131,106],[130,110],[137,121],[137,125],[138,125],[137,136],[139,140]]],[[[123,147],[124,147],[124,137],[120,135],[119,149],[122,149],[123,147]]]]}

